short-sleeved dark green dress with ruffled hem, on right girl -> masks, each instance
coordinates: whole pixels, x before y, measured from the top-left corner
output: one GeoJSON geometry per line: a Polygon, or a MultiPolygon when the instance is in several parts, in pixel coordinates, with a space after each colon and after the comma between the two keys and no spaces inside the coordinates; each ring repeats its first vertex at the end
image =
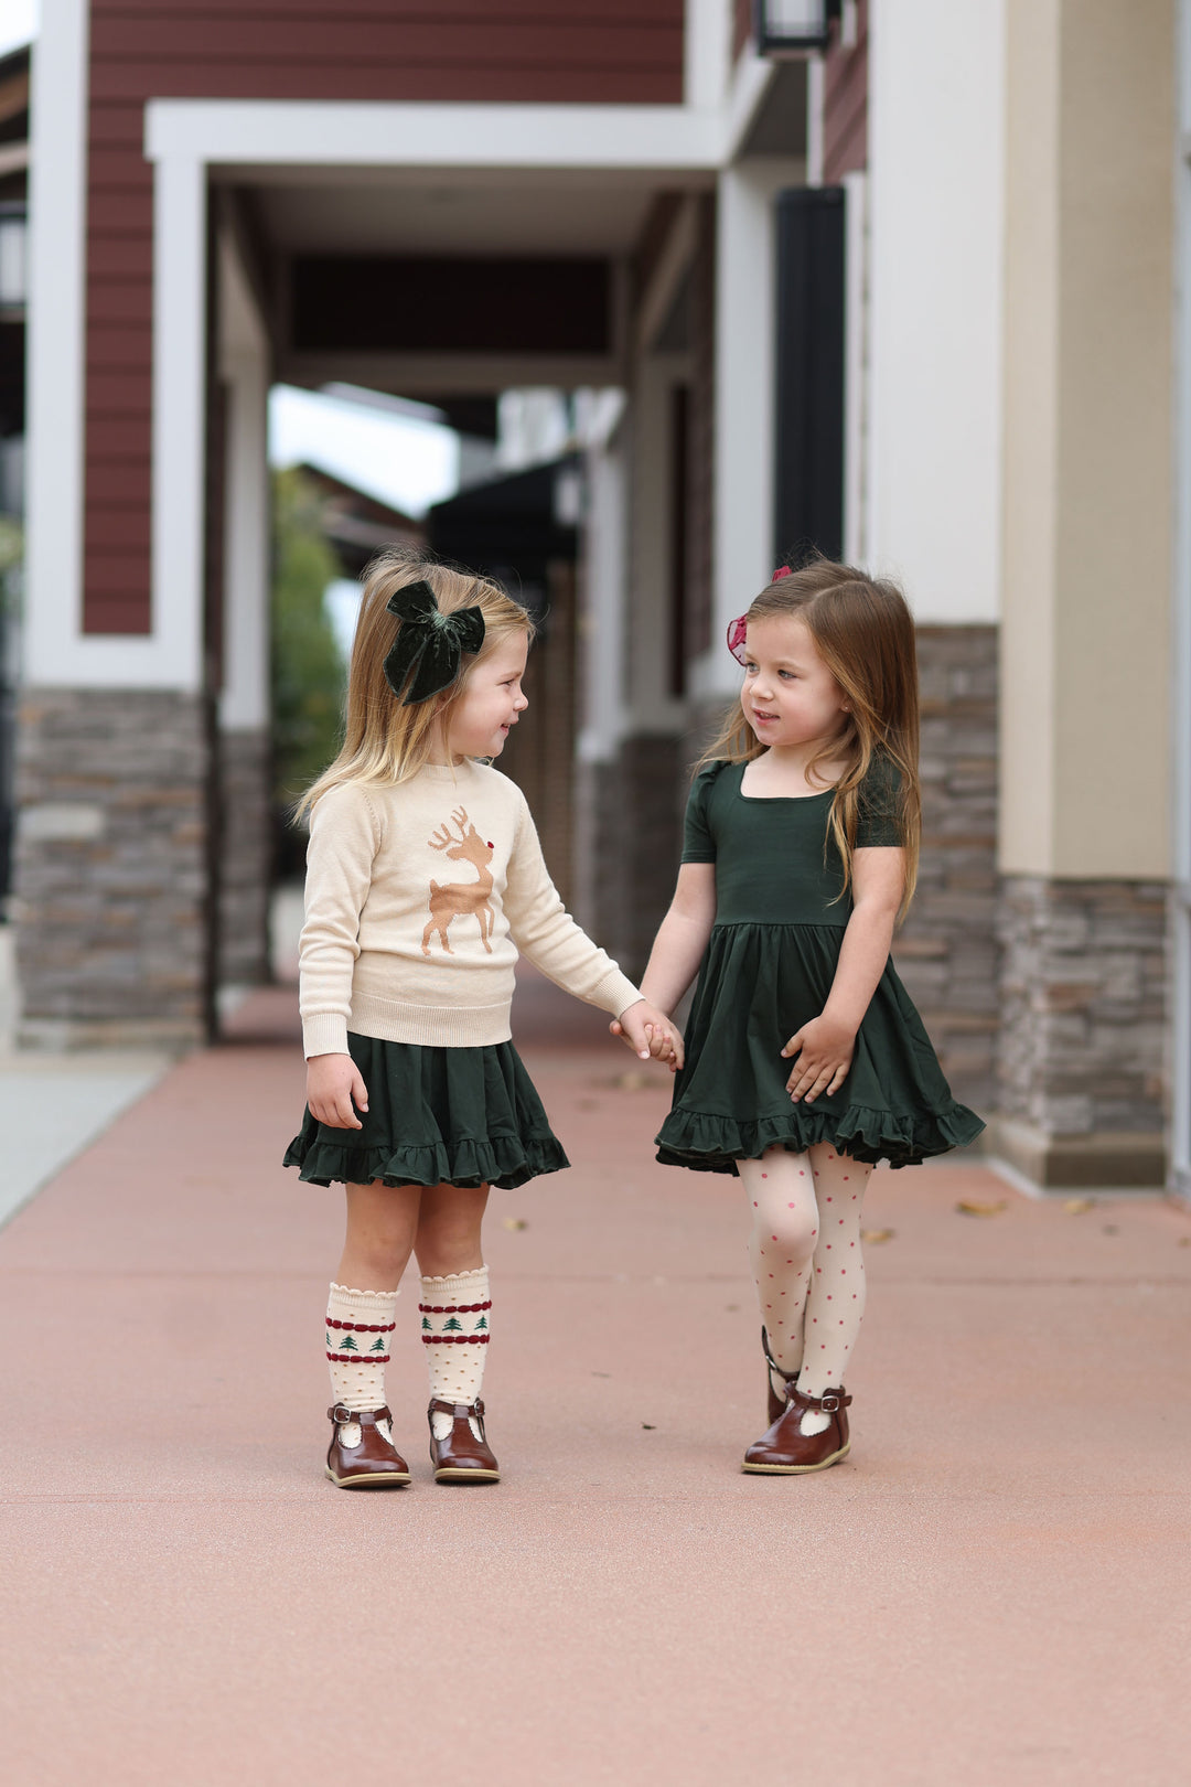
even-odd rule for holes
{"type": "MultiPolygon", "coordinates": [[[[839,1092],[791,1104],[782,1058],[827,1004],[852,915],[829,831],[832,790],[805,799],[741,793],[743,763],[712,763],[695,781],[684,863],[716,865],[716,922],[686,1033],[686,1065],[657,1135],[668,1167],[736,1172],[782,1144],[832,1142],[854,1160],[909,1167],[973,1142],[982,1120],[957,1104],[893,961],[855,1038],[839,1092]]],[[[857,849],[896,845],[895,772],[861,788],[857,849]]]]}

